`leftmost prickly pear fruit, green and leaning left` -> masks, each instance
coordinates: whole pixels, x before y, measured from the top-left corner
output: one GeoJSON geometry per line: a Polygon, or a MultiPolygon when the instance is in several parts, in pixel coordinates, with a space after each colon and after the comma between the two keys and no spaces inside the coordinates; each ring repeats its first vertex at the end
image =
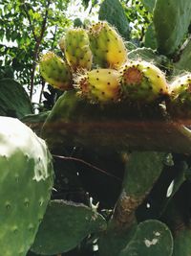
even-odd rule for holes
{"type": "Polygon", "coordinates": [[[53,52],[43,55],[39,64],[42,77],[54,88],[67,90],[72,86],[70,67],[53,52]]]}

